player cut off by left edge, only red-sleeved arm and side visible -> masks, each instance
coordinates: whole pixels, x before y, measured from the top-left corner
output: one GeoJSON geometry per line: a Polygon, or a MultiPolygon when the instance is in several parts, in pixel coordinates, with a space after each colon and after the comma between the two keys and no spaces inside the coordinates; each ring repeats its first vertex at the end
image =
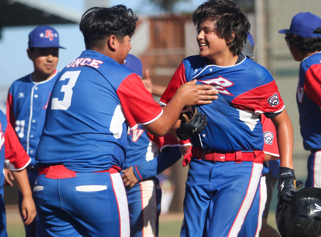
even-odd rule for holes
{"type": "MultiPolygon", "coordinates": [[[[37,212],[32,199],[32,192],[28,181],[26,171],[27,165],[31,159],[23,150],[12,126],[7,123],[7,118],[2,111],[0,111],[0,169],[10,169],[13,177],[22,193],[22,219],[25,225],[32,223],[37,212]]],[[[0,176],[0,236],[8,236],[7,224],[4,206],[4,174],[0,176]]]]}

